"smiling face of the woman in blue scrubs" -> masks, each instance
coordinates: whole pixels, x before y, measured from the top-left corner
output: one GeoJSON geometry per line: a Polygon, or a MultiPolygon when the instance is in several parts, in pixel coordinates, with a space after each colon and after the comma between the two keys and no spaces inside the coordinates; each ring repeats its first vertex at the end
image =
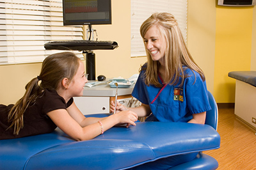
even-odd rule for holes
{"type": "Polygon", "coordinates": [[[153,61],[164,61],[166,44],[156,26],[152,26],[146,32],[144,38],[145,47],[150,53],[153,61]]]}

